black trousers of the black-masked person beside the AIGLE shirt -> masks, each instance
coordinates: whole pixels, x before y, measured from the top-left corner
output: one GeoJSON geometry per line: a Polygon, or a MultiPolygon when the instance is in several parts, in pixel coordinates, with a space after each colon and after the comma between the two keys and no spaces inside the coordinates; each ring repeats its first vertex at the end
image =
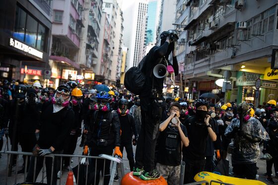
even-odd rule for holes
{"type": "MultiPolygon", "coordinates": [[[[190,145],[190,144],[189,144],[190,145]]],[[[184,183],[194,183],[194,177],[199,172],[204,172],[205,170],[206,160],[204,159],[185,159],[185,176],[184,176],[184,183]]]]}

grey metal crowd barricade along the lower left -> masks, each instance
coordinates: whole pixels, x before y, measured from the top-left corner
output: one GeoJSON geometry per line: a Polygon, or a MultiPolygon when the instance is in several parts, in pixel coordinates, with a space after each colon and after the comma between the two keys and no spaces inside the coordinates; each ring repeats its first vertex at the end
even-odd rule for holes
{"type": "MultiPolygon", "coordinates": [[[[37,175],[36,177],[36,167],[37,167],[37,162],[38,162],[38,158],[40,158],[39,160],[42,160],[42,157],[39,157],[37,155],[34,155],[32,153],[29,153],[29,152],[16,152],[16,151],[0,151],[0,153],[2,155],[7,155],[7,165],[6,165],[6,173],[5,173],[5,182],[4,183],[1,183],[3,185],[11,185],[11,184],[14,184],[16,185],[18,183],[18,180],[19,181],[22,181],[21,183],[26,183],[26,178],[27,178],[27,173],[28,173],[28,169],[27,169],[27,166],[28,166],[28,157],[34,157],[34,171],[33,171],[33,182],[35,183],[36,180],[40,179],[39,177],[41,176],[41,180],[39,181],[40,183],[44,183],[46,180],[46,166],[45,166],[45,161],[46,159],[48,158],[52,158],[52,165],[51,165],[51,182],[50,184],[52,185],[53,184],[53,171],[54,171],[54,163],[55,163],[55,159],[59,159],[57,161],[59,161],[59,165],[57,164],[56,166],[60,166],[60,172],[63,172],[63,158],[64,157],[68,157],[70,158],[70,161],[71,159],[73,158],[77,158],[78,159],[78,164],[76,164],[76,167],[77,167],[77,174],[74,174],[74,176],[77,176],[75,179],[75,182],[76,182],[76,185],[78,185],[78,182],[79,182],[79,179],[82,178],[82,177],[79,177],[79,170],[80,170],[80,162],[83,158],[85,158],[85,172],[86,172],[86,175],[85,175],[85,184],[79,184],[79,185],[87,185],[88,183],[88,172],[90,170],[94,171],[94,182],[91,182],[91,184],[88,184],[88,185],[95,185],[96,184],[96,177],[97,175],[100,176],[100,171],[97,170],[97,161],[98,160],[104,160],[103,162],[103,173],[102,173],[102,179],[101,177],[99,178],[99,181],[101,182],[102,180],[102,184],[104,184],[104,176],[105,176],[105,162],[106,160],[109,160],[109,159],[106,159],[106,158],[103,158],[103,157],[97,157],[97,156],[83,156],[83,155],[66,155],[66,154],[49,154],[49,155],[46,155],[43,157],[43,166],[42,166],[42,172],[38,172],[39,174],[37,175]],[[15,169],[14,169],[14,174],[10,174],[10,177],[8,176],[9,175],[9,166],[10,163],[12,162],[10,159],[11,159],[11,155],[14,155],[16,156],[16,164],[15,164],[15,169]],[[22,156],[26,156],[25,157],[25,166],[24,166],[24,176],[21,175],[21,174],[17,174],[17,171],[18,171],[18,162],[19,162],[19,155],[22,155],[22,156]],[[91,159],[91,160],[90,160],[91,159]],[[90,169],[89,169],[89,160],[92,161],[92,159],[95,160],[95,164],[92,164],[90,166],[90,169]],[[93,169],[94,168],[94,169],[93,169]],[[99,174],[97,174],[97,172],[99,174]],[[14,182],[12,182],[14,179],[14,182]]],[[[83,159],[84,160],[84,159],[83,159]]],[[[30,159],[31,161],[31,159],[30,159]]],[[[111,160],[110,160],[111,161],[111,160]]],[[[115,162],[115,161],[111,161],[112,163],[112,168],[116,169],[117,168],[117,171],[118,171],[118,177],[119,177],[119,185],[121,184],[121,180],[122,180],[122,177],[124,177],[125,175],[125,171],[124,171],[124,165],[123,165],[123,162],[115,162]]],[[[31,163],[31,162],[30,162],[31,163]]],[[[110,164],[110,166],[111,166],[110,164]]],[[[84,167],[84,166],[82,166],[84,167]]],[[[57,168],[58,169],[58,168],[57,168]]],[[[57,170],[57,172],[59,171],[59,169],[57,170]]],[[[72,171],[72,168],[70,166],[70,171],[72,171]]],[[[114,170],[115,171],[115,170],[114,170]]],[[[68,173],[67,173],[68,174],[68,173]]],[[[110,175],[110,173],[109,173],[110,175]]],[[[60,179],[58,179],[57,181],[57,184],[58,185],[65,185],[66,184],[66,181],[67,181],[67,177],[68,175],[64,175],[61,174],[61,177],[60,179]]],[[[114,176],[110,176],[110,183],[109,185],[113,185],[113,179],[114,179],[114,176]],[[112,183],[111,183],[112,182],[112,183]]],[[[29,182],[30,183],[30,182],[29,182]]],[[[101,184],[101,183],[100,183],[101,184]]]]}

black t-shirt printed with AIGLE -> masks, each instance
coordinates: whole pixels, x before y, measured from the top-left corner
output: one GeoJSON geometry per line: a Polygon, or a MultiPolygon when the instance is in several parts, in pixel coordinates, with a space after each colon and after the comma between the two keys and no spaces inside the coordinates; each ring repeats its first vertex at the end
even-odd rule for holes
{"type": "MultiPolygon", "coordinates": [[[[181,128],[187,136],[186,127],[181,124],[181,128]]],[[[157,162],[168,166],[181,164],[181,137],[177,127],[168,125],[165,130],[160,132],[157,162]]]]}

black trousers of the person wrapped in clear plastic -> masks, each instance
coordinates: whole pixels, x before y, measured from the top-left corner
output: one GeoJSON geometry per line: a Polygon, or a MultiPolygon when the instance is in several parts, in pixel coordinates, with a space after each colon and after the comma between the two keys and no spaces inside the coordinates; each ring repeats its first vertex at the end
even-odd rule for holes
{"type": "Polygon", "coordinates": [[[255,180],[257,175],[257,163],[233,164],[234,177],[255,180]]]}

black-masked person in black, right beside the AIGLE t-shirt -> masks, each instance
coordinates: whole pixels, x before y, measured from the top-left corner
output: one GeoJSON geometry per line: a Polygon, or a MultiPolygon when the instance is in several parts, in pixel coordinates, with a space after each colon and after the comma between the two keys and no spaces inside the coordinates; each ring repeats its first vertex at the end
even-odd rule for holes
{"type": "Polygon", "coordinates": [[[196,115],[189,117],[185,122],[190,144],[183,147],[182,151],[185,161],[184,184],[193,183],[194,176],[205,170],[208,135],[212,141],[216,141],[216,134],[208,115],[209,102],[198,100],[195,107],[196,115]]]}

